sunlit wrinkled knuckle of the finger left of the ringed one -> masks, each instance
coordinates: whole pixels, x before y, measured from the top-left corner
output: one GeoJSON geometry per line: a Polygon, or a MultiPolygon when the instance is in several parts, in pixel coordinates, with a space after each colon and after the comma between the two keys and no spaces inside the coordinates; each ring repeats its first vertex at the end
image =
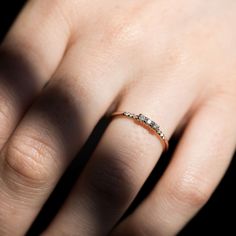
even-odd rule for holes
{"type": "Polygon", "coordinates": [[[30,184],[48,183],[50,168],[54,164],[53,149],[40,138],[16,136],[4,154],[8,174],[23,177],[30,184]]]}

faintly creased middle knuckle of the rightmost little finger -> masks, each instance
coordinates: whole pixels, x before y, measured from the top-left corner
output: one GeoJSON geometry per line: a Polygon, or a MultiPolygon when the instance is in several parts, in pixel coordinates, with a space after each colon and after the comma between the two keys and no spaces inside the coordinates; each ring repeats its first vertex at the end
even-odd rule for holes
{"type": "Polygon", "coordinates": [[[177,204],[201,207],[210,197],[210,187],[202,177],[187,174],[175,181],[169,193],[177,204]]]}

